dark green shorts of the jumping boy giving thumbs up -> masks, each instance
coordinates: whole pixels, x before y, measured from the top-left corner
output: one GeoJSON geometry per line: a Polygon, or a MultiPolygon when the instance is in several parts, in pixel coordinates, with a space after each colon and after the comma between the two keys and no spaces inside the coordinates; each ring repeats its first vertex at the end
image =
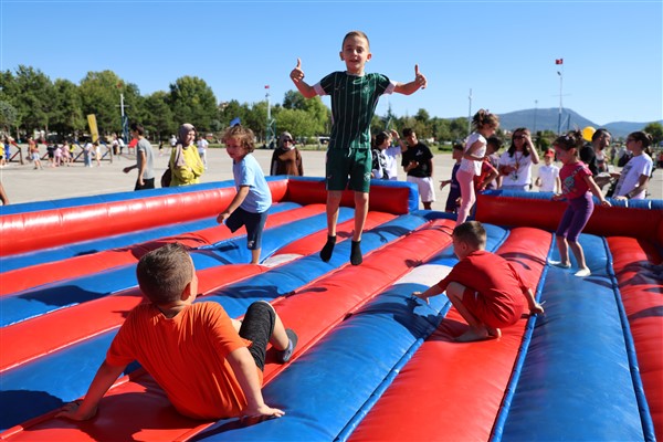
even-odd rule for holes
{"type": "Polygon", "coordinates": [[[355,190],[368,193],[372,157],[370,149],[328,149],[325,165],[327,190],[355,190]]]}

